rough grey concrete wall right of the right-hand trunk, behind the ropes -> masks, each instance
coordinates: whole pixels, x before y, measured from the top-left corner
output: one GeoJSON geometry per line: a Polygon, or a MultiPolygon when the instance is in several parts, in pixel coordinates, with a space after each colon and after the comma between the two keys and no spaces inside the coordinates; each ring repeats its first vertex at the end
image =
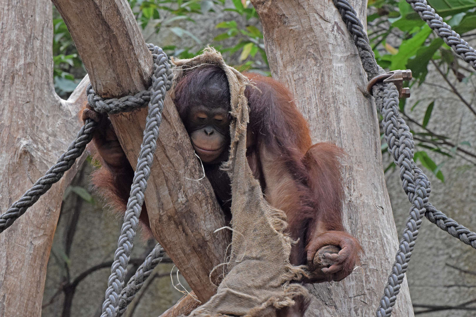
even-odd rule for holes
{"type": "MultiPolygon", "coordinates": [[[[466,72],[465,72],[466,73],[466,72]]],[[[470,78],[467,84],[459,83],[450,71],[450,81],[456,86],[461,95],[475,107],[475,80],[470,78]]],[[[450,137],[449,141],[459,144],[468,141],[472,146],[460,145],[464,149],[476,153],[476,116],[447,89],[449,86],[443,77],[431,65],[426,79],[427,84],[411,89],[411,97],[407,100],[406,112],[417,122],[421,123],[426,106],[435,100],[435,107],[427,128],[450,137]],[[413,112],[411,106],[421,100],[413,112]]],[[[410,128],[420,132],[416,125],[410,128]]],[[[418,141],[416,141],[418,143],[418,141]]],[[[448,148],[448,147],[446,147],[448,148]]],[[[423,150],[417,148],[418,151],[423,150]]],[[[441,154],[427,151],[436,164],[443,163],[448,158],[441,154]]],[[[391,162],[384,154],[384,165],[391,162]]],[[[466,156],[467,157],[467,156],[466,156]]],[[[472,158],[476,162],[475,158],[472,158]]],[[[417,163],[421,167],[421,163],[417,163]]],[[[387,165],[385,165],[387,166],[387,165]]],[[[431,181],[430,202],[436,209],[470,230],[476,230],[476,168],[474,164],[461,157],[449,159],[441,171],[445,182],[438,180],[433,173],[422,168],[431,181]]],[[[387,189],[392,203],[392,209],[401,238],[405,227],[410,202],[403,192],[398,169],[386,173],[387,189]]],[[[417,244],[412,252],[407,272],[408,286],[412,303],[428,305],[458,305],[476,299],[476,250],[442,231],[436,225],[423,219],[419,230],[417,244]],[[449,267],[472,270],[475,274],[464,273],[449,267]]],[[[475,307],[476,305],[471,305],[475,307]]],[[[415,308],[415,311],[423,308],[415,308]]],[[[422,314],[431,317],[472,317],[476,312],[465,310],[446,310],[422,314]]]]}

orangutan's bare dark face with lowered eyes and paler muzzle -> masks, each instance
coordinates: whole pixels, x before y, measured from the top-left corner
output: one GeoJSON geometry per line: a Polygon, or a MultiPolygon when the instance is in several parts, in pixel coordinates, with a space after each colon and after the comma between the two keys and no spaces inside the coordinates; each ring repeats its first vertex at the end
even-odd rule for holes
{"type": "Polygon", "coordinates": [[[228,107],[196,106],[187,116],[187,130],[193,148],[203,163],[226,160],[229,146],[228,107]],[[225,158],[222,156],[225,155],[225,158]]]}

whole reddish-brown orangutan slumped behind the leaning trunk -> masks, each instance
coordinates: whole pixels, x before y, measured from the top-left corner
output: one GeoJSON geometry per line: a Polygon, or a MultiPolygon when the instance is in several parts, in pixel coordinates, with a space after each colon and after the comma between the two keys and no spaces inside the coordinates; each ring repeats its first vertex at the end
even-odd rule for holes
{"type": "MultiPolygon", "coordinates": [[[[245,90],[250,110],[248,164],[269,204],[286,212],[287,231],[297,241],[292,246],[290,262],[312,263],[317,250],[336,245],[341,250],[326,256],[331,265],[316,275],[311,274],[306,282],[344,279],[358,262],[361,247],[342,226],[345,196],[339,160],[343,151],[333,144],[311,143],[307,121],[286,87],[269,77],[244,75],[252,83],[245,90]]],[[[174,93],[175,106],[193,148],[230,221],[230,181],[227,173],[220,170],[221,164],[228,160],[230,145],[230,92],[226,74],[220,67],[203,65],[183,77],[174,93]]],[[[101,120],[106,125],[107,115],[101,120]]],[[[115,197],[124,209],[133,172],[117,146],[113,129],[109,132],[108,129],[112,126],[108,125],[93,139],[103,162],[93,183],[108,192],[109,197],[115,197]]],[[[149,224],[145,204],[140,219],[146,226],[149,224]]],[[[278,311],[278,316],[303,315],[306,304],[298,299],[297,302],[295,308],[278,311]]]]}

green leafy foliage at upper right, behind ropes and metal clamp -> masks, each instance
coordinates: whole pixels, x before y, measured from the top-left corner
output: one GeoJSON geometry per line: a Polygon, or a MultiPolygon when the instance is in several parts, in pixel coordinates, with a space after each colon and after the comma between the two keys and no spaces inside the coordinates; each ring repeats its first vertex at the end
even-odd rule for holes
{"type": "MultiPolygon", "coordinates": [[[[476,28],[476,0],[427,1],[456,32],[462,34],[476,28]]],[[[467,82],[468,78],[472,76],[471,70],[462,68],[464,66],[458,63],[452,49],[420,19],[407,1],[369,0],[368,8],[371,13],[367,16],[369,39],[377,63],[381,67],[387,70],[411,69],[415,79],[412,85],[415,83],[421,85],[425,82],[430,63],[446,68],[448,71],[451,70],[459,81],[467,82]],[[468,71],[469,74],[463,74],[462,69],[465,69],[465,72],[468,71]]],[[[447,76],[447,72],[442,76],[447,76]]],[[[408,85],[408,83],[406,84],[408,85]]],[[[420,150],[415,153],[415,160],[418,160],[422,166],[443,182],[444,176],[440,170],[441,167],[447,160],[458,154],[456,151],[461,150],[461,147],[452,144],[446,136],[438,135],[427,129],[433,109],[437,106],[435,100],[426,106],[421,123],[413,120],[406,113],[406,101],[406,99],[400,100],[399,109],[402,115],[423,131],[412,131],[415,139],[420,141],[417,144],[420,150]],[[437,158],[434,153],[444,157],[439,165],[434,162],[434,159],[437,158]],[[430,158],[430,156],[434,158],[430,158]]],[[[411,106],[410,112],[418,105],[422,106],[420,100],[411,106]]],[[[387,151],[385,145],[382,145],[382,152],[387,151]]],[[[387,170],[390,168],[392,166],[388,166],[387,170]]]]}

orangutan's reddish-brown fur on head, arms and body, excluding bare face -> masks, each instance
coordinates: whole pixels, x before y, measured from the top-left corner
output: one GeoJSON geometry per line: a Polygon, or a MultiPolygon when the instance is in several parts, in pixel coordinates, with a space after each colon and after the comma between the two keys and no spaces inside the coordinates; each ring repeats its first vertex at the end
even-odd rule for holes
{"type": "MultiPolygon", "coordinates": [[[[288,216],[288,232],[298,240],[291,252],[291,262],[306,264],[320,247],[338,245],[342,250],[332,255],[335,265],[326,269],[326,273],[331,279],[343,279],[352,271],[361,251],[358,241],[342,226],[345,195],[340,161],[344,153],[333,144],[312,145],[307,121],[286,87],[269,77],[245,75],[251,81],[245,90],[250,108],[248,163],[268,202],[288,216]]],[[[207,95],[206,85],[210,82],[228,86],[222,70],[204,66],[188,73],[176,87],[174,102],[189,132],[194,127],[185,118],[197,103],[205,107],[229,107],[228,92],[207,95]]],[[[124,163],[127,166],[121,169],[111,168],[103,158],[99,159],[103,167],[96,172],[93,183],[123,211],[129,197],[132,168],[129,163],[124,163]],[[127,191],[125,183],[129,185],[127,191]]],[[[226,159],[224,151],[219,162],[205,164],[207,177],[225,212],[231,199],[229,180],[219,166],[226,159]]],[[[145,212],[141,219],[148,222],[145,212]]]]}

